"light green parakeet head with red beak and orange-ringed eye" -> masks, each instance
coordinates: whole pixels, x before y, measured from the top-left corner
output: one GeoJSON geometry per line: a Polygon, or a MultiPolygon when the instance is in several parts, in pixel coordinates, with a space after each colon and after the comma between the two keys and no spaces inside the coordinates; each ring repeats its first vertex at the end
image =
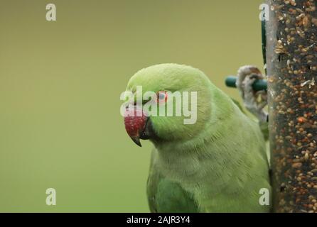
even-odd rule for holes
{"type": "Polygon", "coordinates": [[[210,118],[211,84],[203,72],[186,65],[161,64],[136,72],[127,85],[127,133],[154,144],[190,140],[210,118]]]}

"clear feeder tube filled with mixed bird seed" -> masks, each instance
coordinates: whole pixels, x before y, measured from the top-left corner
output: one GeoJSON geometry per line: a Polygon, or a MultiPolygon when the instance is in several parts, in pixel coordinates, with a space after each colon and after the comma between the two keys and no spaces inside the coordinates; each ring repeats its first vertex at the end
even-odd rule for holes
{"type": "Polygon", "coordinates": [[[274,211],[317,213],[317,1],[267,4],[274,211]]]}

